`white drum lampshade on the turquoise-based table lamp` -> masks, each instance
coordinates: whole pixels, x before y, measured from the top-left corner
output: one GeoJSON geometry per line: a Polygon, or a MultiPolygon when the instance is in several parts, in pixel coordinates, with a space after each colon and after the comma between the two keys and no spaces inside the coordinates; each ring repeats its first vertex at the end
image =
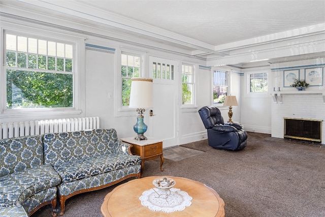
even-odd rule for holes
{"type": "Polygon", "coordinates": [[[152,108],[152,79],[132,78],[130,108],[152,108]]]}

